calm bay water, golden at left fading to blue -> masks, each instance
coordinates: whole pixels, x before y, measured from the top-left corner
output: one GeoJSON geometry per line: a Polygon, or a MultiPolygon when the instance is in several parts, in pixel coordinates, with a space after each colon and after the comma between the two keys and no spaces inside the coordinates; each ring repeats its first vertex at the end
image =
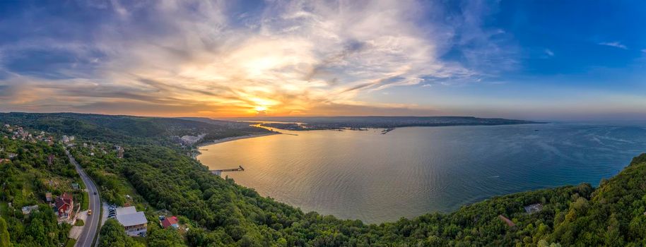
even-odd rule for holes
{"type": "Polygon", "coordinates": [[[237,183],[304,211],[379,223],[536,188],[592,183],[646,152],[646,126],[528,124],[307,131],[203,147],[237,183]]]}

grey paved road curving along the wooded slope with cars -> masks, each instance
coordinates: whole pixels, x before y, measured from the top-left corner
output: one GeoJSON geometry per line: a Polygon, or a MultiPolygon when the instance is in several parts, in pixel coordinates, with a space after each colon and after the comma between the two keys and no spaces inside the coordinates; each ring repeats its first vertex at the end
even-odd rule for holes
{"type": "Polygon", "coordinates": [[[83,171],[83,169],[81,168],[80,165],[78,165],[74,157],[72,157],[69,154],[69,151],[65,150],[65,152],[67,154],[67,157],[69,157],[69,161],[72,162],[72,164],[74,164],[74,167],[76,167],[76,172],[78,172],[78,175],[81,176],[81,179],[83,179],[83,183],[86,184],[86,188],[88,188],[88,193],[90,195],[89,209],[92,210],[92,215],[88,215],[88,218],[86,219],[86,222],[85,222],[85,227],[83,227],[83,232],[81,232],[81,235],[78,236],[78,239],[76,239],[75,246],[79,246],[79,247],[92,246],[92,241],[94,241],[94,236],[97,235],[99,221],[100,221],[101,203],[99,198],[99,191],[96,188],[96,185],[94,184],[94,182],[88,176],[88,174],[86,174],[86,172],[83,171]],[[96,195],[94,193],[96,193],[96,195]]]}

